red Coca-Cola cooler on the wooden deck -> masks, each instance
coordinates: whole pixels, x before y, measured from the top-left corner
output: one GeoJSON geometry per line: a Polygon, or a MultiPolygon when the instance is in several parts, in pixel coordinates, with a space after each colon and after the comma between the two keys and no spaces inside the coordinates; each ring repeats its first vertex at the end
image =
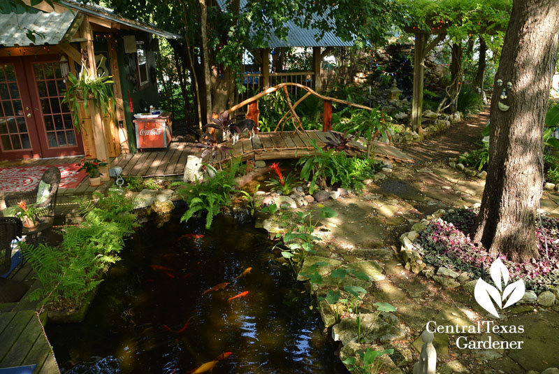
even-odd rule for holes
{"type": "Polygon", "coordinates": [[[167,148],[171,138],[171,122],[169,112],[156,118],[136,118],[136,148],[167,148]]]}

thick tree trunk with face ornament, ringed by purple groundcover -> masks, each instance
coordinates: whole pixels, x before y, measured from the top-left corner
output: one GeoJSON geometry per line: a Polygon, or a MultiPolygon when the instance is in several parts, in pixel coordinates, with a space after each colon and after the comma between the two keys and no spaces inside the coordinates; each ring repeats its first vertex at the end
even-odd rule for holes
{"type": "Polygon", "coordinates": [[[514,0],[493,88],[488,175],[472,238],[512,261],[538,257],[535,217],[542,196],[542,131],[556,66],[559,1],[514,0]],[[502,89],[505,99],[500,99],[502,89]],[[500,110],[499,106],[509,106],[500,110]]]}

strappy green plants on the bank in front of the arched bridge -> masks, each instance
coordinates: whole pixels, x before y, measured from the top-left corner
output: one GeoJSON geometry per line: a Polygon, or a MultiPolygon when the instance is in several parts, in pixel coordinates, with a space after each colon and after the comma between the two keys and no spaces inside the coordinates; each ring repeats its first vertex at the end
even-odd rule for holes
{"type": "Polygon", "coordinates": [[[300,179],[310,181],[309,193],[313,194],[317,185],[326,187],[339,184],[345,189],[363,188],[363,180],[368,179],[375,172],[377,162],[358,157],[347,157],[344,152],[334,150],[324,151],[312,141],[314,155],[305,156],[297,161],[302,166],[300,179]]]}

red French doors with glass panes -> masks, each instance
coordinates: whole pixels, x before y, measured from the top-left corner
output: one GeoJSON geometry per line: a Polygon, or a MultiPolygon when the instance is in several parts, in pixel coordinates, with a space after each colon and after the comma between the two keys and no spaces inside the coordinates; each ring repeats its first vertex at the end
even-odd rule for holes
{"type": "Polygon", "coordinates": [[[66,79],[59,56],[9,57],[0,66],[0,158],[83,154],[70,109],[61,103],[66,79]]]}

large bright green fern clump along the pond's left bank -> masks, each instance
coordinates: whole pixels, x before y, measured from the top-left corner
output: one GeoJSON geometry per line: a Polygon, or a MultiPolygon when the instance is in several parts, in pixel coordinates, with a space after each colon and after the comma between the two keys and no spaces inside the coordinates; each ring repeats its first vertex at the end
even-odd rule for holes
{"type": "Polygon", "coordinates": [[[52,303],[54,308],[79,308],[102,281],[110,264],[119,261],[123,238],[133,233],[136,202],[120,192],[96,194],[97,203],[80,201],[83,222],[67,226],[58,247],[22,243],[22,251],[41,282],[29,299],[52,303]]]}

